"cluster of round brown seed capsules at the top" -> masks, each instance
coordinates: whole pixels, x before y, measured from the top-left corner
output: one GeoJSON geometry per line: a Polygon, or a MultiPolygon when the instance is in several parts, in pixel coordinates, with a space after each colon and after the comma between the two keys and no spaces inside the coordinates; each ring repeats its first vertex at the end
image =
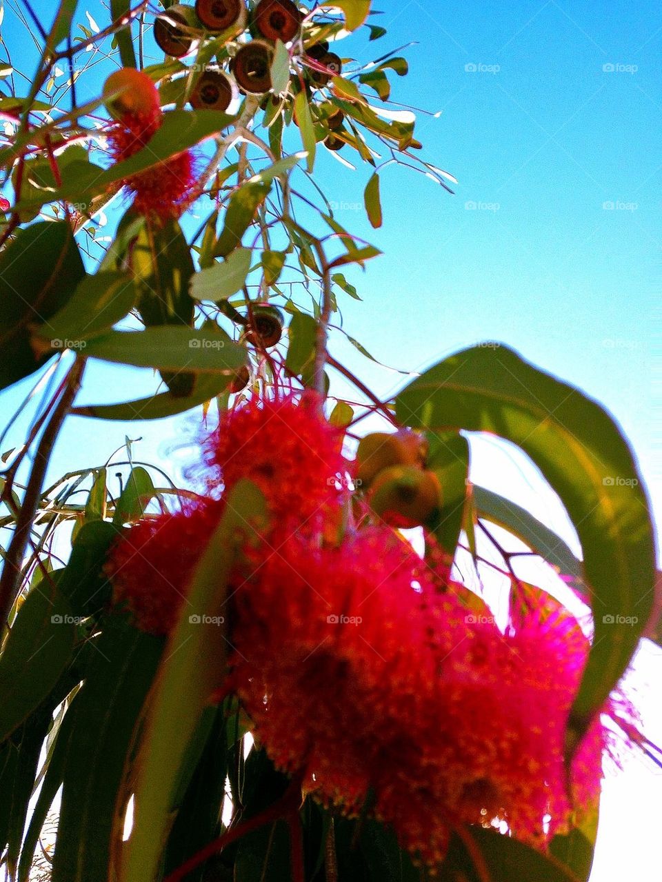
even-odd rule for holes
{"type": "MultiPolygon", "coordinates": [[[[222,111],[233,101],[234,84],[242,94],[267,96],[271,92],[271,64],[277,41],[284,44],[301,41],[307,89],[323,89],[333,77],[339,76],[342,59],[330,51],[328,42],[302,48],[304,18],[305,10],[301,11],[291,0],[260,0],[252,11],[244,0],[197,0],[195,6],[170,6],[155,19],[153,33],[160,49],[175,58],[194,52],[205,35],[222,36],[227,42],[241,37],[242,42],[229,59],[231,76],[219,66],[208,66],[190,94],[193,108],[222,111]]],[[[343,120],[344,114],[338,108],[331,108],[324,118],[330,132],[324,138],[324,145],[330,150],[345,146],[346,142],[338,135],[343,120]]]]}

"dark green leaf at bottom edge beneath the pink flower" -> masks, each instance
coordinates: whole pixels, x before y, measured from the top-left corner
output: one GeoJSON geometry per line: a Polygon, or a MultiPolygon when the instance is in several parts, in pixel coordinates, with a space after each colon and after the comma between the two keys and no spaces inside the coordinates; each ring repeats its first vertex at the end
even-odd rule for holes
{"type": "Polygon", "coordinates": [[[462,882],[579,882],[554,857],[510,836],[478,826],[465,827],[463,836],[469,848],[453,833],[440,878],[462,882]],[[480,870],[477,860],[482,864],[480,870]]]}

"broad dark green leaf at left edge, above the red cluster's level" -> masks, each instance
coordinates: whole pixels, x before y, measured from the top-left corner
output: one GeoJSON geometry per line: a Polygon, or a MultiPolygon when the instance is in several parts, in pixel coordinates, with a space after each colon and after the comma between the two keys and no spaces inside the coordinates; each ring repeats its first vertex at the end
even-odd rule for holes
{"type": "Polygon", "coordinates": [[[52,353],[30,345],[31,325],[62,309],[85,268],[65,221],[35,223],[19,230],[0,253],[0,389],[48,361],[52,353]]]}

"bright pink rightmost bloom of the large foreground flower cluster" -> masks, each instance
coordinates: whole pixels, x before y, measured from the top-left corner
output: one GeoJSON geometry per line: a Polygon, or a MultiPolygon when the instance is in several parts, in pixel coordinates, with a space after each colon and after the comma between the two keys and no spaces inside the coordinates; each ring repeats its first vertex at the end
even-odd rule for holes
{"type": "Polygon", "coordinates": [[[428,863],[443,856],[448,826],[457,823],[505,821],[517,839],[545,850],[554,833],[568,828],[572,813],[589,811],[599,796],[609,746],[599,717],[569,774],[564,758],[589,641],[576,619],[545,597],[539,592],[539,602],[505,634],[494,619],[482,621],[469,610],[459,624],[462,606],[452,586],[450,596],[441,597],[432,713],[410,727],[420,752],[377,787],[377,810],[428,863]]]}

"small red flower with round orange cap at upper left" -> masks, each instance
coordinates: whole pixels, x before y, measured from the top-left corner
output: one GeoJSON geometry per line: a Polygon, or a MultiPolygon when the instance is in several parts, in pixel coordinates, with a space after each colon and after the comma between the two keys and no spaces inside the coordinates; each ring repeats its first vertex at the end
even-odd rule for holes
{"type": "MultiPolygon", "coordinates": [[[[126,68],[115,71],[106,81],[104,92],[112,94],[118,89],[125,91],[107,101],[117,120],[108,131],[110,152],[116,162],[129,159],[147,146],[163,122],[159,93],[145,73],[126,68]]],[[[123,183],[133,193],[136,211],[166,221],[179,217],[189,205],[195,178],[193,155],[185,150],[127,177],[123,183]]]]}

